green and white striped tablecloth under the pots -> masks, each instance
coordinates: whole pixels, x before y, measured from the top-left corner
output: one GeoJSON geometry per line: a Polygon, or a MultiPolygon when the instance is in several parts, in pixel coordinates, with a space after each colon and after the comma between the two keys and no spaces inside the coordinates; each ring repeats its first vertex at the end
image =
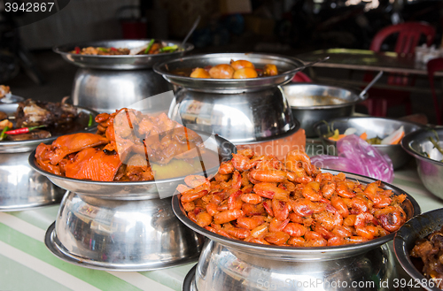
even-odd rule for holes
{"type": "MultiPolygon", "coordinates": [[[[422,212],[443,207],[427,191],[413,161],[395,172],[395,186],[412,195],[422,212]]],[[[105,272],[66,263],[44,245],[58,205],[33,211],[0,212],[0,290],[182,290],[194,264],[152,272],[105,272]]]]}

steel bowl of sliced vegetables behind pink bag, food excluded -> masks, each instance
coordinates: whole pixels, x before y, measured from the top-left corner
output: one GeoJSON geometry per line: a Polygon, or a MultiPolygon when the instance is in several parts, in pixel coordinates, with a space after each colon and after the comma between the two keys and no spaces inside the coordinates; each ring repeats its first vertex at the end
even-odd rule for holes
{"type": "MultiPolygon", "coordinates": [[[[329,119],[326,120],[326,122],[329,124],[332,130],[338,129],[340,134],[345,133],[347,128],[354,127],[357,129],[356,134],[360,135],[366,132],[369,138],[377,136],[383,138],[389,134],[392,134],[392,132],[399,129],[400,126],[404,127],[405,134],[412,133],[424,127],[413,122],[374,117],[329,119]]],[[[325,134],[328,134],[328,126],[324,122],[318,122],[315,124],[314,128],[315,133],[323,142],[324,149],[326,149],[325,154],[337,156],[337,142],[331,141],[324,136],[325,134]]],[[[400,144],[374,144],[372,146],[380,153],[388,155],[391,158],[394,169],[398,169],[402,165],[405,165],[410,159],[408,153],[401,149],[400,144]]]]}

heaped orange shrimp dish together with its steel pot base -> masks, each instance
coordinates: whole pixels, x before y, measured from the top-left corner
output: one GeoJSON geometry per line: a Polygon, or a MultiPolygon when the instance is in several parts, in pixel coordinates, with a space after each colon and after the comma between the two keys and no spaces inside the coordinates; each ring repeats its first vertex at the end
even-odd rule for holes
{"type": "Polygon", "coordinates": [[[388,290],[379,282],[397,274],[385,242],[420,213],[401,189],[318,169],[299,150],[282,161],[240,150],[212,179],[188,182],[173,210],[211,241],[184,290],[345,290],[338,281],[365,280],[388,290]]]}

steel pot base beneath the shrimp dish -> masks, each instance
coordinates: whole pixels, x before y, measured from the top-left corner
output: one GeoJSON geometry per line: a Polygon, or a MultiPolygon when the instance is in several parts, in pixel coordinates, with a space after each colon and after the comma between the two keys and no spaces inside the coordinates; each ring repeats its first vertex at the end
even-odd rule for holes
{"type": "Polygon", "coordinates": [[[197,266],[183,282],[183,291],[388,291],[395,278],[395,258],[386,244],[333,261],[288,262],[207,241],[197,266]]]}

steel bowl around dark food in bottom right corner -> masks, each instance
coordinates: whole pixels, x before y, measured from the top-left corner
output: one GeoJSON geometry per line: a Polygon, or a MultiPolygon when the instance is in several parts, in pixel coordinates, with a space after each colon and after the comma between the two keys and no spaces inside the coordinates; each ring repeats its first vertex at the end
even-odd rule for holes
{"type": "MultiPolygon", "coordinates": [[[[443,226],[443,209],[428,211],[410,219],[401,226],[393,238],[395,257],[403,269],[414,280],[415,285],[420,284],[425,290],[440,291],[438,287],[431,286],[432,280],[426,279],[422,270],[417,270],[410,259],[410,252],[416,241],[424,239],[428,234],[438,231],[443,226]]],[[[440,286],[443,284],[439,283],[440,286]]]]}

